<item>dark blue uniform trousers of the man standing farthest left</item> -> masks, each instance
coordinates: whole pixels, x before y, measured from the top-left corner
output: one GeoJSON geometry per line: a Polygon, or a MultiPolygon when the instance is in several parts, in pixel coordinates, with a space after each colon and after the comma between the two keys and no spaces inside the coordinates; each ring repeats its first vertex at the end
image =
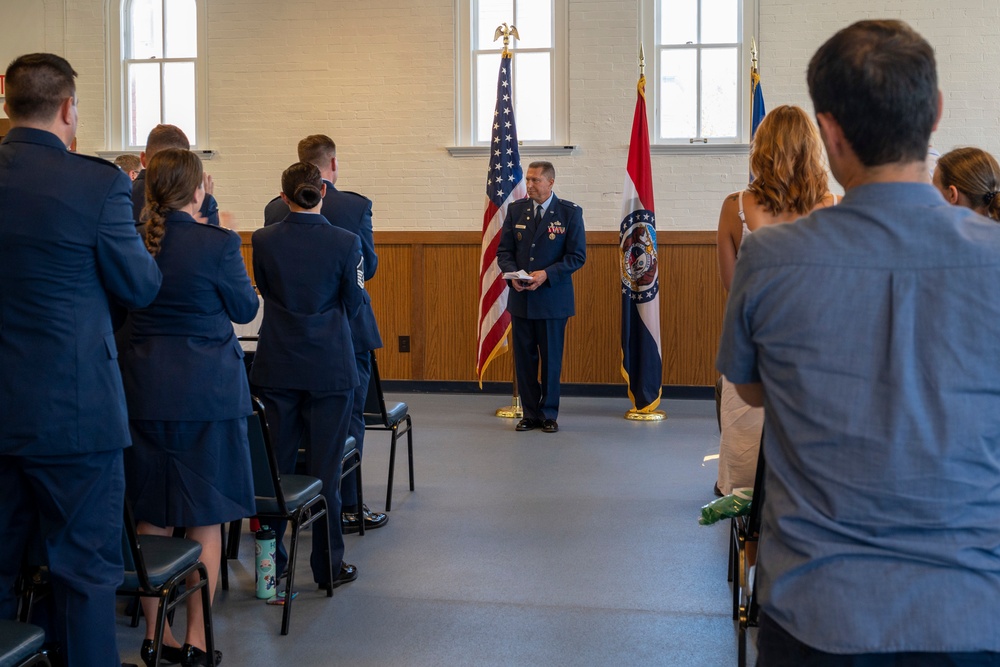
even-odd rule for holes
{"type": "MultiPolygon", "coordinates": [[[[115,591],[123,579],[122,450],[0,456],[0,617],[14,618],[14,579],[25,550],[41,544],[52,618],[33,619],[62,646],[68,667],[119,667],[115,591]]],[[[42,563],[39,563],[42,564],[42,563]]]]}

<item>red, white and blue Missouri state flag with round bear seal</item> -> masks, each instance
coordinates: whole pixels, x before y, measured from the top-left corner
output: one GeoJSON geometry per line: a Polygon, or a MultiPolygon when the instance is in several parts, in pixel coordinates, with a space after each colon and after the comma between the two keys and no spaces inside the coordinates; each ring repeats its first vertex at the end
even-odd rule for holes
{"type": "Polygon", "coordinates": [[[620,227],[622,293],[622,376],[632,400],[630,412],[651,413],[660,404],[663,357],[660,349],[660,280],[656,257],[653,174],[646,123],[646,77],[639,78],[628,174],[622,193],[620,227]]]}

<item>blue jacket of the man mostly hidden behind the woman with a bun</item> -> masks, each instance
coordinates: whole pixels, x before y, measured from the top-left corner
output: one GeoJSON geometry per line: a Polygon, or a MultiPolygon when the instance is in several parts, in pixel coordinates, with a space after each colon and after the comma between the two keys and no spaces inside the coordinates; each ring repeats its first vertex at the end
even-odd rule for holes
{"type": "MultiPolygon", "coordinates": [[[[338,190],[330,181],[326,183],[326,196],[320,213],[334,227],[340,227],[361,239],[361,254],[365,258],[365,280],[371,280],[378,269],[378,255],[375,254],[375,236],[372,230],[372,202],[355,192],[338,190]]],[[[280,222],[288,215],[288,205],[275,197],[264,208],[264,226],[280,222]]],[[[364,303],[358,316],[351,320],[351,335],[357,352],[368,352],[382,347],[382,337],[375,322],[368,290],[364,293],[364,303]]]]}

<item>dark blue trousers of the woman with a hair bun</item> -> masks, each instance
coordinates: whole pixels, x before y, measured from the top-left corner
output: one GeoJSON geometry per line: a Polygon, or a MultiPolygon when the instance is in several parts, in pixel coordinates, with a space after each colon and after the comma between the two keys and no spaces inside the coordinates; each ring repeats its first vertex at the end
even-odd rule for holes
{"type": "MultiPolygon", "coordinates": [[[[306,474],[323,482],[329,521],[319,519],[313,524],[309,563],[313,580],[325,584],[329,571],[327,562],[333,566],[333,576],[336,577],[344,560],[344,536],[340,532],[340,470],[354,394],[351,390],[314,392],[260,387],[258,396],[264,404],[279,472],[295,472],[295,460],[301,444],[306,450],[306,474]],[[326,550],[327,536],[329,552],[326,550]]],[[[281,545],[284,522],[275,530],[277,542],[281,545]]],[[[288,563],[288,554],[283,546],[278,547],[275,561],[280,575],[288,563]]]]}

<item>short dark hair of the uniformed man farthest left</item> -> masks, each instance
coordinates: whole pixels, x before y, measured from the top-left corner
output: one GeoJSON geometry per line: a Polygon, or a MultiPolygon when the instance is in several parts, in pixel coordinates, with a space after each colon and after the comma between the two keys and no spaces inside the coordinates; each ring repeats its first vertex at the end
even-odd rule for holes
{"type": "Polygon", "coordinates": [[[76,72],[52,53],[29,53],[11,61],[4,78],[7,111],[14,121],[50,121],[67,97],[76,96],[76,72]]]}

